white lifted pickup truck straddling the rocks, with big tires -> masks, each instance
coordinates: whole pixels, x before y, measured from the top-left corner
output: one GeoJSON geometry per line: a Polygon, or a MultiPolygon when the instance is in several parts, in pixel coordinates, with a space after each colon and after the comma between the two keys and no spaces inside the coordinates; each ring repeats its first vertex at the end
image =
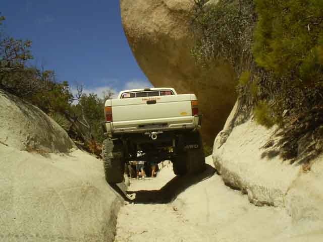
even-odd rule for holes
{"type": "Polygon", "coordinates": [[[138,153],[148,162],[171,160],[177,175],[204,169],[195,94],[177,94],[173,88],[125,90],[105,101],[104,115],[102,156],[109,183],[122,181],[125,164],[138,153]]]}

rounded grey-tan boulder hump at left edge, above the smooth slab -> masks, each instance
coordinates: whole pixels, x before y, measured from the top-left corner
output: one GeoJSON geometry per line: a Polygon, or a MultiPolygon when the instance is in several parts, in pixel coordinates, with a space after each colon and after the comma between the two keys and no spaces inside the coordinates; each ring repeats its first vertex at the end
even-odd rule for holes
{"type": "Polygon", "coordinates": [[[0,89],[0,143],[19,150],[68,152],[68,134],[38,107],[0,89]]]}

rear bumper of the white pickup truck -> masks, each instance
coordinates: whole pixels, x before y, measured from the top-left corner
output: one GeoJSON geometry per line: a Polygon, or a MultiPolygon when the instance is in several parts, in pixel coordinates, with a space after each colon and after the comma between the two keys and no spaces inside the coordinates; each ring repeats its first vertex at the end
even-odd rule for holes
{"type": "Polygon", "coordinates": [[[169,131],[183,129],[199,129],[202,115],[142,119],[122,122],[104,122],[103,129],[110,137],[113,134],[145,133],[150,131],[169,131]]]}

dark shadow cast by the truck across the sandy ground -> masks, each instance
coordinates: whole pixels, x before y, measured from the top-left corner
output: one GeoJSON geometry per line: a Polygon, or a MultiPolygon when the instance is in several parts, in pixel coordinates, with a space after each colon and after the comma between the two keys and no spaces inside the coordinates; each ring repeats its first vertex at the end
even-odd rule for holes
{"type": "Polygon", "coordinates": [[[127,198],[127,201],[141,204],[170,203],[185,189],[211,177],[216,172],[216,169],[208,164],[206,164],[205,167],[206,169],[202,173],[196,175],[187,174],[175,176],[160,190],[127,191],[128,196],[135,194],[135,198],[133,200],[127,198]]]}

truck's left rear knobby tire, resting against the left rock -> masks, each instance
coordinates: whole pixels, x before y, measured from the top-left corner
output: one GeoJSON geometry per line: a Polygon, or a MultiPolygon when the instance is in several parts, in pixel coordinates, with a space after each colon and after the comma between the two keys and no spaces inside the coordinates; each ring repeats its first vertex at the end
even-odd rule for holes
{"type": "Polygon", "coordinates": [[[125,156],[122,142],[112,142],[105,139],[102,146],[102,158],[107,183],[121,183],[125,172],[125,156]]]}

